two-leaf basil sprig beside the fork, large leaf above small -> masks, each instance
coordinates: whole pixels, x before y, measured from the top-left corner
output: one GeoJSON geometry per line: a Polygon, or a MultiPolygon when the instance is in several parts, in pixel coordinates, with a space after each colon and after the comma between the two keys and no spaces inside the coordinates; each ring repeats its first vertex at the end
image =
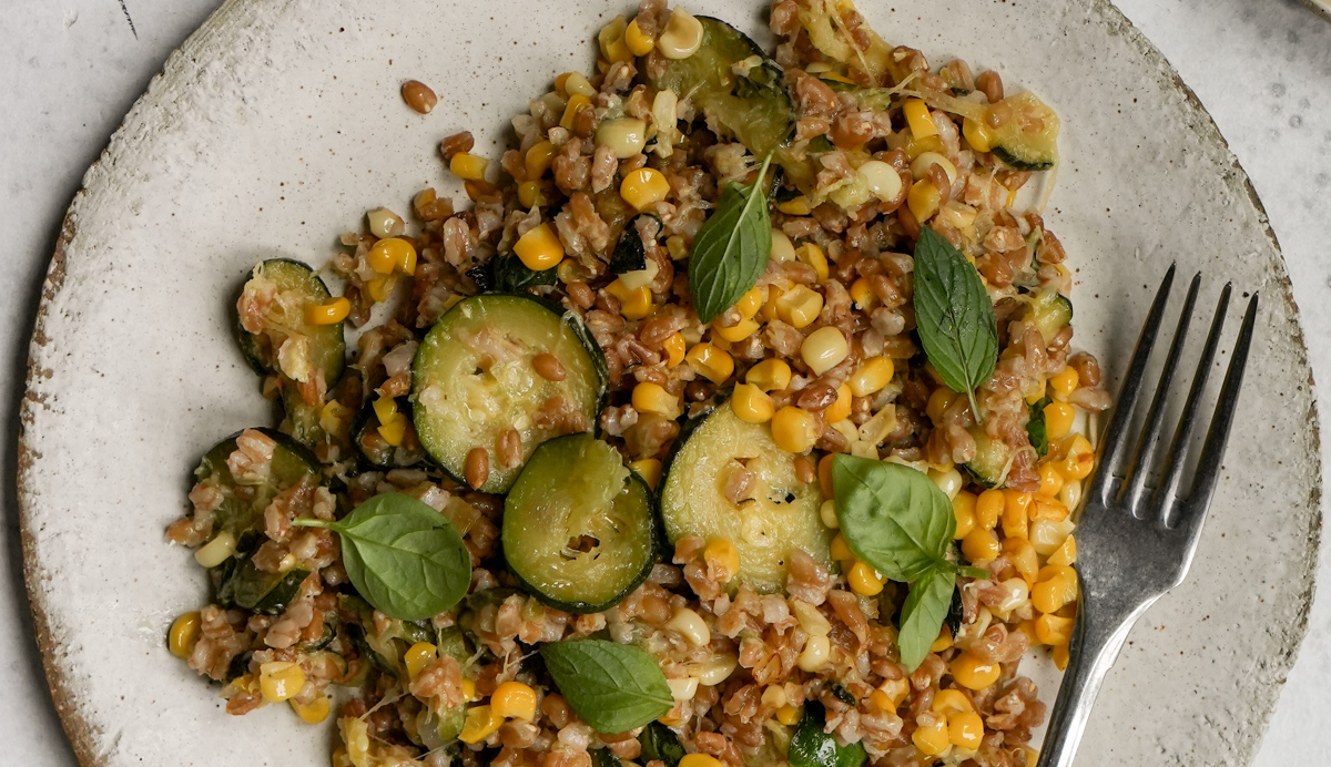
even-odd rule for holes
{"type": "Polygon", "coordinates": [[[901,607],[901,662],[920,666],[948,617],[957,574],[988,577],[948,560],[957,517],[922,472],[855,456],[832,459],[841,534],[855,556],[893,581],[910,584],[901,607]]]}

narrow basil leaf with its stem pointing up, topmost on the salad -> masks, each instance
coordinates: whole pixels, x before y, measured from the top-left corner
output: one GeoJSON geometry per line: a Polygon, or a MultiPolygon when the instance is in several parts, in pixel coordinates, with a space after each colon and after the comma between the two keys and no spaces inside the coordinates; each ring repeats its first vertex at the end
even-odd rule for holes
{"type": "Polygon", "coordinates": [[[772,255],[772,219],[763,178],[771,162],[768,153],[752,185],[727,183],[716,210],[693,238],[688,291],[697,319],[704,323],[748,292],[767,269],[772,255]]]}

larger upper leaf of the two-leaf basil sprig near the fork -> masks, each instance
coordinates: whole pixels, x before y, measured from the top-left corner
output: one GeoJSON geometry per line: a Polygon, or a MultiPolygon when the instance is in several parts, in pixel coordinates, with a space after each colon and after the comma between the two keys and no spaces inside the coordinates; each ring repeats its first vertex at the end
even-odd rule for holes
{"type": "Polygon", "coordinates": [[[841,534],[855,556],[908,584],[948,566],[957,530],[952,501],[922,472],[848,455],[832,459],[841,534]]]}

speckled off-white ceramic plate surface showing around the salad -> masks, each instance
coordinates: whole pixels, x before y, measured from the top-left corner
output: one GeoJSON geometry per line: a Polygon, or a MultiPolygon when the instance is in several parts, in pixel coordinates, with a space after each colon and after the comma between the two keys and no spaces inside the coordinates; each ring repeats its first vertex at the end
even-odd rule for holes
{"type": "MultiPolygon", "coordinates": [[[[228,296],[261,258],[323,263],[369,207],[406,209],[429,185],[461,197],[435,142],[469,128],[498,157],[508,118],[559,72],[588,68],[595,29],[630,12],[563,8],[230,0],[89,169],[37,316],[19,473],[37,639],[85,767],[327,763],[330,727],[285,707],[228,716],[216,687],[165,647],[172,618],[205,598],[202,573],[162,534],[185,509],[188,472],[269,412],[232,342],[228,296]],[[409,77],[439,93],[429,117],[402,105],[409,77]]],[[[760,0],[705,11],[764,28],[760,0]]],[[[1203,271],[1207,302],[1225,279],[1262,291],[1236,439],[1191,577],[1133,633],[1078,762],[1247,763],[1303,635],[1320,528],[1311,372],[1247,177],[1107,0],[864,12],[888,40],[936,64],[997,66],[1058,109],[1065,160],[1047,217],[1078,267],[1075,343],[1111,379],[1170,261],[1203,271]]]]}

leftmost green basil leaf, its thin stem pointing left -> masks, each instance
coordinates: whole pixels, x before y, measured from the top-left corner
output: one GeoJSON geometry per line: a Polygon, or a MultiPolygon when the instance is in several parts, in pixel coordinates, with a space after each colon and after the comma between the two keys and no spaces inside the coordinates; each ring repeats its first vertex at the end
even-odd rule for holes
{"type": "Polygon", "coordinates": [[[377,610],[399,621],[423,621],[457,605],[471,585],[471,553],[447,518],[403,493],[374,496],[346,517],[298,518],[342,538],[342,565],[351,585],[377,610]]]}

